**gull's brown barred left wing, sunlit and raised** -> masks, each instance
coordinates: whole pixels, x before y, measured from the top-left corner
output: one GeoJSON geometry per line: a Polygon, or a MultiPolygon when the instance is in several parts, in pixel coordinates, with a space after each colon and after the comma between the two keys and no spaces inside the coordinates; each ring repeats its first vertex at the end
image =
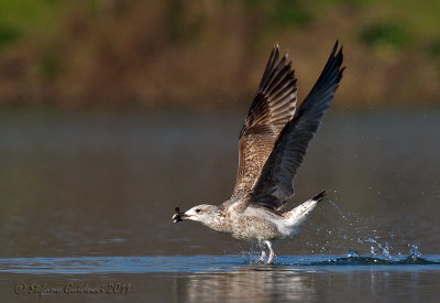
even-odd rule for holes
{"type": "Polygon", "coordinates": [[[295,113],[296,78],[287,55],[274,46],[239,139],[239,169],[232,197],[250,193],[279,132],[295,113]]]}

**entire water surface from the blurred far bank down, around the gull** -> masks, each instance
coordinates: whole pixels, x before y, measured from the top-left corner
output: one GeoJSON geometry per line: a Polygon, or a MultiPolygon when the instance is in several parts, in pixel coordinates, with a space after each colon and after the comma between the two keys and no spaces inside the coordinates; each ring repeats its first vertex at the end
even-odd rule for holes
{"type": "Polygon", "coordinates": [[[320,204],[273,266],[170,223],[228,198],[244,115],[0,113],[2,301],[437,300],[440,111],[330,112],[290,205],[324,188],[340,212],[320,204]]]}

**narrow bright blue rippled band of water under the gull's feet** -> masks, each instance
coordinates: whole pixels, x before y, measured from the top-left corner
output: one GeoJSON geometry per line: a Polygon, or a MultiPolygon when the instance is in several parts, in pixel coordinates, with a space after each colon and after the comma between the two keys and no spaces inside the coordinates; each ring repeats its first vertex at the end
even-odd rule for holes
{"type": "Polygon", "coordinates": [[[155,256],[155,257],[80,257],[80,258],[10,258],[0,259],[0,272],[24,274],[89,274],[150,272],[227,272],[250,270],[286,271],[362,271],[440,270],[440,255],[389,258],[359,256],[278,256],[273,264],[244,256],[155,256]]]}

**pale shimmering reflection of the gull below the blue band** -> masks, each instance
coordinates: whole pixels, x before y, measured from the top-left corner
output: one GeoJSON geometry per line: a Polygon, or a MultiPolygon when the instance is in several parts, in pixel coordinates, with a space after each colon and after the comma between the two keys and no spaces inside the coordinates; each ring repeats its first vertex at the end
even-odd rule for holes
{"type": "Polygon", "coordinates": [[[227,273],[190,274],[176,281],[176,296],[184,295],[190,302],[292,302],[312,300],[317,291],[301,272],[261,269],[261,266],[227,273]]]}

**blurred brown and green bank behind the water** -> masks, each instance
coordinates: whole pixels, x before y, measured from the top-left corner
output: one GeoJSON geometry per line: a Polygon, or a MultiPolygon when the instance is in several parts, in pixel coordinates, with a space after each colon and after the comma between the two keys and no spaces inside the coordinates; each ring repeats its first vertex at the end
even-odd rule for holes
{"type": "Polygon", "coordinates": [[[438,105],[438,15],[432,0],[0,0],[0,104],[246,106],[275,43],[304,97],[340,39],[336,106],[438,105]]]}

